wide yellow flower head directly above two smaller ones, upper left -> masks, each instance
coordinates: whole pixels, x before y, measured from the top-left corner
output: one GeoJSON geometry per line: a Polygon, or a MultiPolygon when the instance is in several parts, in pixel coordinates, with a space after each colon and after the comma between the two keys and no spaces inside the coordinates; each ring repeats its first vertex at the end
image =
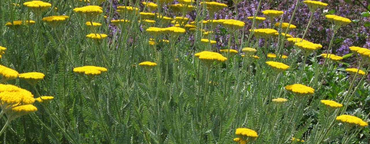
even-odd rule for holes
{"type": "Polygon", "coordinates": [[[73,11],[75,11],[76,13],[80,15],[85,16],[87,21],[92,21],[99,14],[103,13],[103,8],[101,8],[100,6],[84,6],[84,7],[74,8],[73,11]]]}

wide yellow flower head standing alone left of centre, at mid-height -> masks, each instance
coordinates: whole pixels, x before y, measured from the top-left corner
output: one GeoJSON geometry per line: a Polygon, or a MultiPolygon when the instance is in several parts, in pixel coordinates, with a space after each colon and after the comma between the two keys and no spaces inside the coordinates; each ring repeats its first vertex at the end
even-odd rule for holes
{"type": "Polygon", "coordinates": [[[105,69],[104,67],[97,67],[97,66],[83,66],[83,67],[75,67],[73,71],[82,76],[86,75],[87,80],[92,80],[96,76],[106,72],[107,69],[105,69]]]}

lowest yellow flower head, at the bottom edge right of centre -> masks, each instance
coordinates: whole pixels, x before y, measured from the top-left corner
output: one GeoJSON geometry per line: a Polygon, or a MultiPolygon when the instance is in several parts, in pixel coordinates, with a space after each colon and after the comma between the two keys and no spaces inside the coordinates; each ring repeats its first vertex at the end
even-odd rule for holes
{"type": "Polygon", "coordinates": [[[238,128],[235,130],[235,134],[237,138],[234,138],[234,141],[239,142],[239,144],[254,141],[258,137],[256,131],[247,128],[238,128]]]}

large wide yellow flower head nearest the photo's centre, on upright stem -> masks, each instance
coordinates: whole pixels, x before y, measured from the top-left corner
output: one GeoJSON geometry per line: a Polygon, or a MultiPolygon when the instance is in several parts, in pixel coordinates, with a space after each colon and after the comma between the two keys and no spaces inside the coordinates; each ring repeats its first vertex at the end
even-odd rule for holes
{"type": "Polygon", "coordinates": [[[194,54],[194,56],[198,57],[198,59],[201,60],[209,68],[212,66],[213,62],[221,63],[227,60],[227,58],[222,56],[221,54],[209,51],[199,52],[194,54]]]}

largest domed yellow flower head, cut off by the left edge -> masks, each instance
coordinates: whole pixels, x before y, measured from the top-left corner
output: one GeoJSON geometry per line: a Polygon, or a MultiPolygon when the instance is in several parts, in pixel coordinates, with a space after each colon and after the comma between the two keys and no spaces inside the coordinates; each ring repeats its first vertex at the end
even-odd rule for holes
{"type": "Polygon", "coordinates": [[[7,110],[14,106],[28,105],[35,102],[31,92],[11,84],[0,84],[0,106],[7,110]]]}

